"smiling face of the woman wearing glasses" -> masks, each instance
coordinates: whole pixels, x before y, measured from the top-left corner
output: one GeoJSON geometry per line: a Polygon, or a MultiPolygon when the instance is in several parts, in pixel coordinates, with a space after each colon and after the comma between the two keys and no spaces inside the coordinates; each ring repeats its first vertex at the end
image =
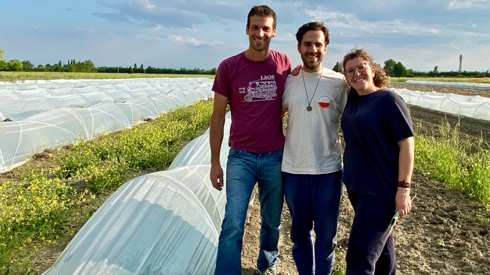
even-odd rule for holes
{"type": "Polygon", "coordinates": [[[368,61],[359,57],[350,59],[345,62],[345,71],[348,71],[349,69],[354,69],[354,74],[346,74],[345,78],[347,79],[349,85],[354,88],[357,93],[359,93],[360,95],[364,95],[379,90],[379,88],[374,85],[373,81],[375,73],[374,66],[369,64],[368,61]],[[366,69],[362,72],[359,72],[357,67],[364,63],[367,63],[366,69]]]}

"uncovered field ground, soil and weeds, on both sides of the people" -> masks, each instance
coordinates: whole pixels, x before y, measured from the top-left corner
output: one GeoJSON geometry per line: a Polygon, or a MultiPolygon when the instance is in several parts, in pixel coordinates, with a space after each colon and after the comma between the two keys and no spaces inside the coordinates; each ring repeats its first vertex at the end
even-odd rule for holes
{"type": "MultiPolygon", "coordinates": [[[[417,88],[423,89],[476,95],[472,94],[474,91],[417,88]]],[[[476,93],[489,96],[488,92],[476,93]]],[[[0,216],[0,226],[6,225],[0,230],[0,243],[6,244],[0,246],[0,274],[7,274],[7,269],[9,274],[41,274],[120,184],[135,176],[166,169],[177,152],[209,126],[211,110],[212,102],[201,102],[130,130],[60,150],[47,150],[26,165],[0,174],[1,202],[11,200],[14,203],[10,206],[18,207],[16,214],[24,213],[10,222],[10,213],[2,212],[0,216]],[[158,152],[150,154],[155,151],[158,152]],[[115,154],[120,157],[107,158],[115,154]]],[[[416,148],[412,195],[417,194],[417,199],[413,211],[400,219],[394,231],[399,274],[489,274],[490,123],[458,119],[415,106],[410,111],[417,132],[416,143],[424,146],[416,148]],[[450,161],[454,157],[451,152],[458,154],[456,164],[450,161]],[[439,167],[437,163],[446,166],[439,167]],[[454,173],[444,175],[445,170],[454,173]],[[475,185],[479,179],[484,182],[475,185]]],[[[255,260],[260,229],[257,200],[249,206],[249,212],[243,274],[255,275],[258,274],[255,260]]],[[[346,195],[340,215],[337,275],[344,274],[343,258],[353,217],[346,195]]],[[[297,274],[291,255],[291,220],[286,206],[282,219],[278,274],[297,274]]]]}

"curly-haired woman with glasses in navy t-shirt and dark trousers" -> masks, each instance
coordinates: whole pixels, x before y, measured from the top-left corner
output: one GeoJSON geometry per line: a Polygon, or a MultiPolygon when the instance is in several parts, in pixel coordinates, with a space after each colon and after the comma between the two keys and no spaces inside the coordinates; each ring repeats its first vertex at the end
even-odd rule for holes
{"type": "Polygon", "coordinates": [[[412,208],[414,132],[407,106],[383,89],[388,76],[368,53],[343,58],[351,87],[342,115],[344,178],[355,215],[347,247],[347,275],[395,275],[390,224],[412,208]]]}

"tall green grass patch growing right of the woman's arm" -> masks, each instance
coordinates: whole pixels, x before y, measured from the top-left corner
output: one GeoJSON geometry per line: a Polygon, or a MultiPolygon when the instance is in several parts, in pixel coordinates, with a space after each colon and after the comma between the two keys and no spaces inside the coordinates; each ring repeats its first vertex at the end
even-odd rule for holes
{"type": "MultiPolygon", "coordinates": [[[[416,124],[415,131],[421,127],[416,124]]],[[[478,146],[462,140],[458,125],[447,120],[439,127],[440,137],[417,136],[415,166],[448,187],[461,190],[470,198],[490,207],[490,146],[480,138],[478,146]],[[474,149],[476,147],[476,149],[474,149]]]]}

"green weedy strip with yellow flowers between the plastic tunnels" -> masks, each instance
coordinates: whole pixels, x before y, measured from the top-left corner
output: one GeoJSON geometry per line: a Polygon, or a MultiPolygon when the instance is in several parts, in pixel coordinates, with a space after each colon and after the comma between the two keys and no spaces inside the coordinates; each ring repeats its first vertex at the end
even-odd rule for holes
{"type": "Polygon", "coordinates": [[[48,163],[27,163],[0,175],[0,274],[36,274],[33,252],[73,236],[70,225],[90,217],[95,209],[85,206],[98,196],[168,167],[185,144],[202,135],[212,109],[212,102],[180,108],[132,129],[79,141],[49,154],[48,163]]]}

